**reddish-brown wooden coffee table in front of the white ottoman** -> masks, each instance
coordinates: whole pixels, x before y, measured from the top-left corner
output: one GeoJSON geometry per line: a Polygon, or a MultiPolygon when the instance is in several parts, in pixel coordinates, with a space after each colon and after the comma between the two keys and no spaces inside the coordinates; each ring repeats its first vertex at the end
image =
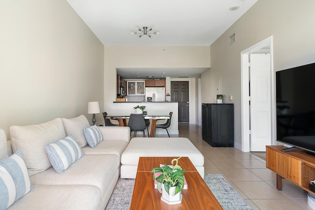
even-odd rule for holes
{"type": "Polygon", "coordinates": [[[181,204],[168,205],[161,201],[161,193],[154,188],[153,174],[150,171],[159,164],[171,165],[177,157],[140,157],[134,183],[130,210],[222,210],[220,203],[201,178],[188,157],[182,157],[179,165],[186,170],[188,189],[182,190],[181,204]]]}

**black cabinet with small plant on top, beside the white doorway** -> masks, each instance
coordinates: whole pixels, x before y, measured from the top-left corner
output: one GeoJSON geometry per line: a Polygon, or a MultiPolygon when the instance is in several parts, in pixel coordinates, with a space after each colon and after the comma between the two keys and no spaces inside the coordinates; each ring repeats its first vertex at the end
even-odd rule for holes
{"type": "Polygon", "coordinates": [[[202,104],[202,139],[212,147],[234,147],[234,104],[202,104]]]}

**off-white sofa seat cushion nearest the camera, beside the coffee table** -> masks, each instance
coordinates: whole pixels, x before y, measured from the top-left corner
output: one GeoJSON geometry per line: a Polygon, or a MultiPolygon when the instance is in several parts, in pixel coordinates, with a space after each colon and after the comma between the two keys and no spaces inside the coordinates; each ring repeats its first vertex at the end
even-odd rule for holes
{"type": "Polygon", "coordinates": [[[100,203],[100,190],[95,186],[34,185],[7,210],[99,210],[100,203]]]}

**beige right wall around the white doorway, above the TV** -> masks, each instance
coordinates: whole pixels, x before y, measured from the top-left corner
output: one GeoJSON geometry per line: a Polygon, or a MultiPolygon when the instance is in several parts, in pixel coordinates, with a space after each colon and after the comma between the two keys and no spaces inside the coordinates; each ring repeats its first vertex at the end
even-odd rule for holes
{"type": "Polygon", "coordinates": [[[211,69],[202,74],[202,102],[214,102],[216,95],[204,81],[222,77],[222,93],[234,96],[237,144],[242,143],[241,52],[273,35],[275,71],[315,62],[314,8],[314,0],[259,0],[211,45],[211,69]],[[229,46],[233,32],[236,42],[229,46]]]}

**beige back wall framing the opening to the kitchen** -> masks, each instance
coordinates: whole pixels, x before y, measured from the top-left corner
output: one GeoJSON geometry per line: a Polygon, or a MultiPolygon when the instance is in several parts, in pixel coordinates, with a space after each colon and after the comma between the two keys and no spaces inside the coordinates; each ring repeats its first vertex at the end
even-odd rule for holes
{"type": "MultiPolygon", "coordinates": [[[[104,110],[115,111],[116,68],[210,67],[209,46],[105,46],[104,110]]],[[[171,78],[171,81],[173,79],[171,78]]],[[[186,79],[187,81],[187,79],[186,79]]],[[[195,79],[189,79],[191,123],[197,116],[195,79]]],[[[131,107],[132,108],[132,107],[131,107]]]]}

